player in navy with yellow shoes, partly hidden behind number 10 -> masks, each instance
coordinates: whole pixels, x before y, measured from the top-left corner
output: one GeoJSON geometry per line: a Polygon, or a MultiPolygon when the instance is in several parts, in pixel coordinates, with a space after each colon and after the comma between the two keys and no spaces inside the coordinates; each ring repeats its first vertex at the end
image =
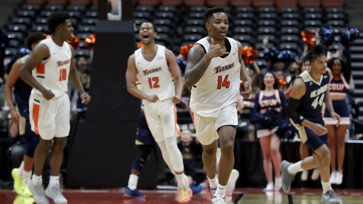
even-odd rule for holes
{"type": "MultiPolygon", "coordinates": [[[[41,32],[31,33],[26,40],[26,46],[32,50],[40,41],[45,39],[45,35],[41,32]]],[[[19,134],[24,135],[26,152],[23,162],[19,168],[12,170],[14,179],[14,189],[18,195],[32,196],[28,189],[28,182],[32,175],[33,156],[35,148],[39,143],[39,136],[30,128],[29,121],[29,96],[32,87],[19,78],[19,71],[24,62],[28,59],[29,54],[18,59],[11,67],[7,82],[5,84],[5,99],[10,108],[11,120],[19,125],[19,134]],[[12,89],[14,88],[16,108],[13,104],[12,89]]],[[[19,154],[19,147],[12,148],[12,154],[19,154]]]]}

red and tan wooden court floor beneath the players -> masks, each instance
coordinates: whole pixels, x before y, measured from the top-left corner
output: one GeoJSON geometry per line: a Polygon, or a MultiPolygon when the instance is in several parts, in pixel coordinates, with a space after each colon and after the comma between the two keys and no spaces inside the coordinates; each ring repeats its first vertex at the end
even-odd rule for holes
{"type": "MultiPolygon", "coordinates": [[[[261,188],[237,188],[230,204],[319,204],[321,189],[291,189],[287,195],[281,192],[262,192],[261,188]]],[[[65,189],[64,195],[68,204],[177,204],[176,191],[142,190],[146,199],[127,199],[123,197],[123,189],[65,189]]],[[[363,189],[335,189],[344,204],[362,204],[363,189]]],[[[205,189],[193,196],[189,204],[211,204],[211,193],[205,189]]],[[[0,204],[32,204],[31,197],[16,196],[9,189],[0,189],[0,204]]],[[[50,200],[52,204],[53,201],[50,200]]]]}

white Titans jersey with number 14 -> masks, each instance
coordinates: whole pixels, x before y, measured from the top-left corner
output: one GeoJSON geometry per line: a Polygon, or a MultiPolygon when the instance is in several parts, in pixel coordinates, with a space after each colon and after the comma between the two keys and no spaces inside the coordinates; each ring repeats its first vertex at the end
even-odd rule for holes
{"type": "MultiPolygon", "coordinates": [[[[203,76],[192,86],[190,108],[193,113],[204,117],[217,117],[222,108],[236,103],[240,95],[238,47],[234,39],[226,38],[231,44],[228,56],[213,58],[203,76]]],[[[205,37],[196,44],[208,50],[210,44],[207,39],[205,37]]]]}

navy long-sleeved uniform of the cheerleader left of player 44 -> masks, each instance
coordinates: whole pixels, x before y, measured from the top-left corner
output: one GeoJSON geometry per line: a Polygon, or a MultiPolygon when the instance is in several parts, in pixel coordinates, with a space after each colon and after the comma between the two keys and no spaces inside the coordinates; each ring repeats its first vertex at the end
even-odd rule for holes
{"type": "Polygon", "coordinates": [[[270,107],[280,113],[278,117],[285,118],[286,99],[282,91],[275,89],[271,96],[265,96],[264,91],[256,94],[252,117],[259,120],[256,124],[257,138],[271,135],[277,131],[277,127],[270,129],[264,123],[267,117],[266,112],[270,107]]]}

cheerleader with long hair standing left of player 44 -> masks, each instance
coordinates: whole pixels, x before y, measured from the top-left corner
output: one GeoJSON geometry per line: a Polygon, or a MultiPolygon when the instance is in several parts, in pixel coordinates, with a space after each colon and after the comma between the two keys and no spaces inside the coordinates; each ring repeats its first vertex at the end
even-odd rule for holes
{"type": "Polygon", "coordinates": [[[268,184],[264,190],[279,191],[282,187],[280,175],[280,143],[276,132],[285,119],[286,100],[285,94],[278,90],[278,80],[273,72],[267,72],[263,77],[261,91],[254,99],[253,116],[258,118],[256,125],[257,138],[260,140],[264,155],[264,171],[268,184]],[[272,164],[276,172],[275,185],[272,180],[272,164]]]}

